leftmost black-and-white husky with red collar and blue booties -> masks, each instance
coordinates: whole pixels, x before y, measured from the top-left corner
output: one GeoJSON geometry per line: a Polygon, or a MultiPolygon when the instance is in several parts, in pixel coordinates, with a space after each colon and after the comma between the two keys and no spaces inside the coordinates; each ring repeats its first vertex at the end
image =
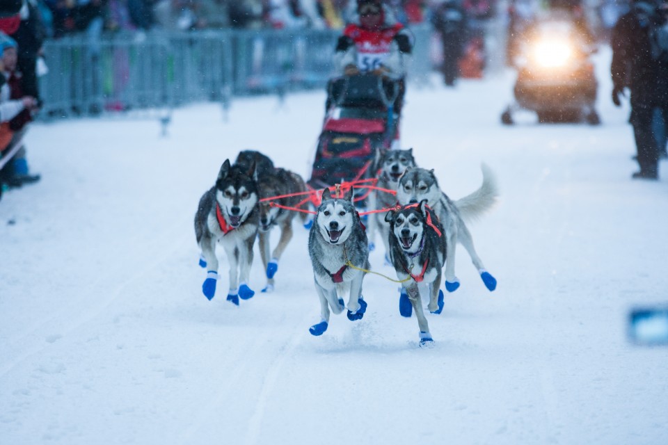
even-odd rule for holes
{"type": "Polygon", "coordinates": [[[255,161],[230,165],[230,160],[225,159],[216,184],[200,199],[195,214],[195,235],[202,250],[200,266],[207,268],[202,292],[209,300],[214,298],[218,281],[216,243],[223,245],[230,261],[230,291],[227,300],[238,306],[239,298],[248,300],[255,295],[247,284],[250,266],[253,264],[253,244],[260,222],[257,183],[253,175],[255,161]],[[237,278],[241,280],[240,283],[237,278]]]}

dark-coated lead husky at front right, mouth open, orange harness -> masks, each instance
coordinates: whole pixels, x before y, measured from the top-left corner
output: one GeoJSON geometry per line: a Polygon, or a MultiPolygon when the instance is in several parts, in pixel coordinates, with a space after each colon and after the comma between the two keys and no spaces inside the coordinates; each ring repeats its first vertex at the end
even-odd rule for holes
{"type": "Polygon", "coordinates": [[[433,341],[429,324],[424,317],[418,284],[429,284],[429,311],[443,311],[443,291],[440,278],[445,264],[446,245],[443,226],[427,206],[427,200],[418,205],[401,207],[385,213],[390,225],[390,259],[410,300],[417,325],[420,327],[420,345],[433,341]]]}

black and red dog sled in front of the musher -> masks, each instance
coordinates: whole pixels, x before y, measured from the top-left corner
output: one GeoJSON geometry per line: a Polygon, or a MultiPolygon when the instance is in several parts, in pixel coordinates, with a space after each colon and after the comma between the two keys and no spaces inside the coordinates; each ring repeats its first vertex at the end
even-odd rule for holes
{"type": "Polygon", "coordinates": [[[397,133],[394,104],[399,82],[375,74],[331,82],[309,186],[324,188],[372,177],[376,150],[390,148],[397,133]]]}

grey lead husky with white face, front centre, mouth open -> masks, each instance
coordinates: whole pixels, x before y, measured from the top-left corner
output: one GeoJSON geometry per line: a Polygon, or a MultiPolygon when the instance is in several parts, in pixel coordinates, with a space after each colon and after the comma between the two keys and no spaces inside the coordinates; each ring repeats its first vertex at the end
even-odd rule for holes
{"type": "Polygon", "coordinates": [[[340,314],[344,302],[339,295],[347,290],[350,293],[348,319],[360,320],[367,303],[362,297],[365,272],[359,269],[369,270],[369,246],[364,226],[353,206],[352,190],[342,198],[332,197],[328,188],[324,190],[308,236],[308,253],[321,309],[320,323],[312,325],[309,332],[321,335],[327,330],[329,308],[340,314]]]}

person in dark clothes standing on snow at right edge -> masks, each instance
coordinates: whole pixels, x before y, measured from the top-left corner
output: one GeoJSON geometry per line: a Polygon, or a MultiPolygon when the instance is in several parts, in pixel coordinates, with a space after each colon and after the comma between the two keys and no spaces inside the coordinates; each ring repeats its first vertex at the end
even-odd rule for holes
{"type": "Polygon", "coordinates": [[[612,102],[620,106],[619,97],[628,86],[629,121],[640,166],[633,178],[658,179],[659,147],[652,120],[655,108],[662,109],[664,120],[668,116],[668,35],[655,37],[665,24],[665,15],[659,14],[653,3],[636,0],[612,30],[612,102]]]}

